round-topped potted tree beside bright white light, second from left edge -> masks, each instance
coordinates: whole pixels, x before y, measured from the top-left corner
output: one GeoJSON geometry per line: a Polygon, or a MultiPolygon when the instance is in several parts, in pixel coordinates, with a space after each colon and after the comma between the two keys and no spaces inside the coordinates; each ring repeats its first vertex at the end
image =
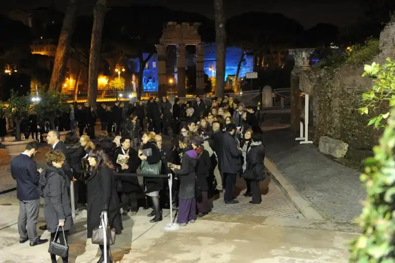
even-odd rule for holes
{"type": "MultiPolygon", "coordinates": [[[[35,97],[34,111],[40,118],[47,118],[51,130],[55,130],[56,117],[69,109],[67,105],[67,97],[58,91],[41,91],[35,97]]],[[[61,132],[61,136],[65,137],[68,132],[61,132]]],[[[64,139],[64,138],[63,138],[64,139]]]]}

